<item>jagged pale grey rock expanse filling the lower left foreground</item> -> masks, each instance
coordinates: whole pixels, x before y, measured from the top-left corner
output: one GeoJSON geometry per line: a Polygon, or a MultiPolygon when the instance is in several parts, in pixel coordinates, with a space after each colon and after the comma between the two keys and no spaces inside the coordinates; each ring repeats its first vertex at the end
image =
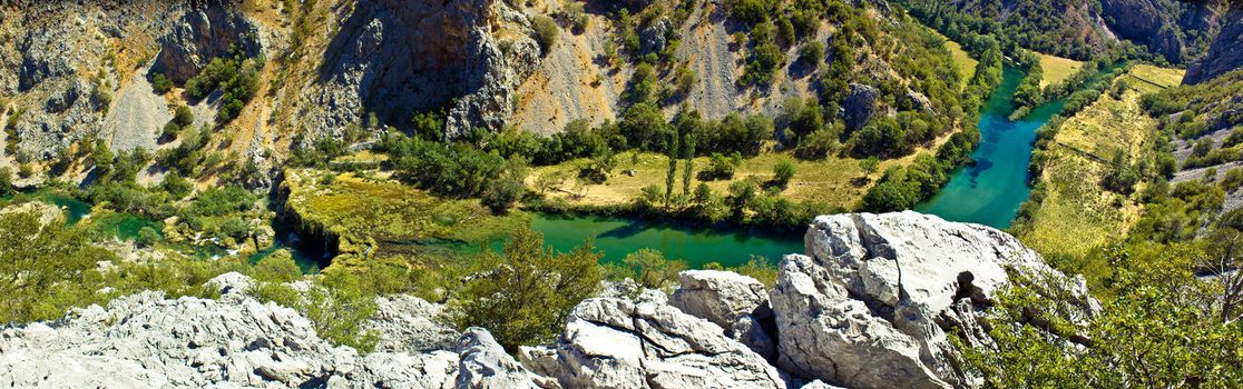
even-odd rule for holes
{"type": "MultiPolygon", "coordinates": [[[[533,388],[487,331],[454,349],[365,357],[316,336],[296,311],[259,302],[249,278],[209,281],[220,300],[119,297],[53,323],[0,332],[0,385],[56,388],[533,388]]],[[[383,328],[383,327],[382,327],[383,328]]],[[[382,333],[383,336],[383,333],[382,333]]]]}

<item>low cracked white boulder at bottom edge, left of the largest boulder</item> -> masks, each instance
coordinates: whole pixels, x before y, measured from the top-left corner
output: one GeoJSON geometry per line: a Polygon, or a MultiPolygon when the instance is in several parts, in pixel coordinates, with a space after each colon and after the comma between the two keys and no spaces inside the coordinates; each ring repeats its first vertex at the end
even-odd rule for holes
{"type": "Polygon", "coordinates": [[[660,301],[590,299],[553,347],[523,364],[564,388],[786,388],[777,369],[721,327],[660,301]]]}

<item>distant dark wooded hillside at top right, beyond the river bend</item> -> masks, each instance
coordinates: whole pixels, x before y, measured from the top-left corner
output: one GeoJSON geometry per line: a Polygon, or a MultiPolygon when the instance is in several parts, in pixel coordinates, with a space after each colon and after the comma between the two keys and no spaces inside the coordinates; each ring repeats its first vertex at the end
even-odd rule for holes
{"type": "Polygon", "coordinates": [[[904,4],[938,28],[993,32],[1039,52],[1086,61],[1124,40],[1170,63],[1187,63],[1204,52],[1224,7],[1224,1],[1172,0],[910,0],[904,4]]]}

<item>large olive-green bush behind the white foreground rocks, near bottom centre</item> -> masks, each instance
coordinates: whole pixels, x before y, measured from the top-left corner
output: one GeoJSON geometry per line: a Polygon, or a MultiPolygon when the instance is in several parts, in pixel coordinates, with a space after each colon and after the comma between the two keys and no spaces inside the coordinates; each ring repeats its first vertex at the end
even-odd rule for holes
{"type": "Polygon", "coordinates": [[[595,292],[602,279],[600,254],[590,242],[569,253],[544,248],[543,235],[520,228],[503,256],[485,250],[477,273],[451,307],[452,322],[484,327],[508,351],[551,342],[578,302],[595,292]]]}

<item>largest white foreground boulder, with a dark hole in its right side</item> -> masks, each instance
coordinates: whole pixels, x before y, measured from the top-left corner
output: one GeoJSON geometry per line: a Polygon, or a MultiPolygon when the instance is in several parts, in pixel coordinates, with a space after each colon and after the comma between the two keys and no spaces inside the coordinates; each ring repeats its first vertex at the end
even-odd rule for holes
{"type": "Polygon", "coordinates": [[[808,255],[782,260],[771,292],[781,368],[850,388],[972,384],[947,331],[991,339],[976,316],[1019,279],[1057,279],[1080,311],[1095,302],[1083,279],[1045,265],[1014,237],[914,212],[819,217],[808,255]]]}

